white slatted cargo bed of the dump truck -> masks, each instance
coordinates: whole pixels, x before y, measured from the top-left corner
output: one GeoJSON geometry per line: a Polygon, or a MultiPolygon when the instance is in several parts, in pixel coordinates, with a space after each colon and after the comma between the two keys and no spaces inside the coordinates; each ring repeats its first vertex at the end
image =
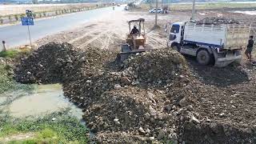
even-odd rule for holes
{"type": "Polygon", "coordinates": [[[197,25],[186,23],[184,42],[220,49],[241,49],[246,46],[250,26],[246,25],[197,25]]]}

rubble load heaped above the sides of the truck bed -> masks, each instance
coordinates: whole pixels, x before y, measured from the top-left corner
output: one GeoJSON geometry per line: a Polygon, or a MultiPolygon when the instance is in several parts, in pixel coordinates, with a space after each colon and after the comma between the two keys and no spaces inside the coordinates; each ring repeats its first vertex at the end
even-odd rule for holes
{"type": "Polygon", "coordinates": [[[197,25],[221,25],[221,24],[239,24],[238,21],[234,20],[234,18],[203,18],[202,20],[196,21],[197,25]]]}

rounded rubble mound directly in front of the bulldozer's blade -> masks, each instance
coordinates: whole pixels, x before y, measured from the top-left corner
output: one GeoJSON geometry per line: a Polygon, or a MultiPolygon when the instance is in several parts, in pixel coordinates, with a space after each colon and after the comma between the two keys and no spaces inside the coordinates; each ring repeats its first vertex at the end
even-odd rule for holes
{"type": "Polygon", "coordinates": [[[134,82],[149,86],[165,86],[181,74],[187,73],[186,60],[174,50],[151,50],[125,61],[134,82]]]}

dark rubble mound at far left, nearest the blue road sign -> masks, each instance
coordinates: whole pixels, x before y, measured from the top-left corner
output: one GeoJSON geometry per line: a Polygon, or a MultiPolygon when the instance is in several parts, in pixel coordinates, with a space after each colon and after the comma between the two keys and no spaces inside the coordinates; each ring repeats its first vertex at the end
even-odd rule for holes
{"type": "Polygon", "coordinates": [[[68,43],[48,43],[34,50],[14,70],[15,79],[22,83],[54,83],[69,78],[78,64],[79,52],[68,43]]]}

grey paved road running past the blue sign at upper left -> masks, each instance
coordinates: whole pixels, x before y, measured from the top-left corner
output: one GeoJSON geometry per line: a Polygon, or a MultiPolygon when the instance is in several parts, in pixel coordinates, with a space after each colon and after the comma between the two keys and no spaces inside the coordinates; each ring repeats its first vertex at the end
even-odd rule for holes
{"type": "MultiPolygon", "coordinates": [[[[94,18],[98,18],[102,14],[113,14],[113,11],[123,10],[123,6],[105,7],[96,10],[87,10],[74,14],[65,14],[55,18],[46,18],[34,22],[34,26],[30,26],[30,34],[32,41],[43,38],[46,35],[56,34],[63,30],[69,30],[75,26],[82,25],[94,18]]],[[[27,26],[21,23],[13,26],[0,27],[0,50],[2,49],[2,40],[6,41],[7,46],[14,47],[29,44],[29,35],[27,26]]]]}

